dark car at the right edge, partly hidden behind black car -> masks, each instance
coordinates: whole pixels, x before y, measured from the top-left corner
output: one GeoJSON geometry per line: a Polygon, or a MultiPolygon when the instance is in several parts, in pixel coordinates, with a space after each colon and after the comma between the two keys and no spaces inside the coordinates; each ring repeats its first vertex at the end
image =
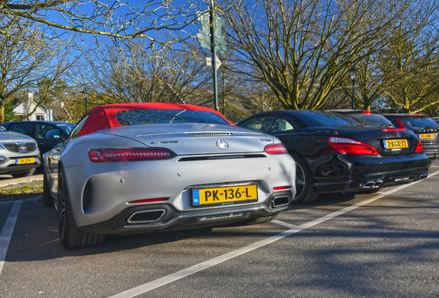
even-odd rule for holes
{"type": "Polygon", "coordinates": [[[427,115],[383,114],[397,128],[412,130],[420,139],[424,153],[429,157],[429,166],[439,159],[439,124],[427,115]]]}

